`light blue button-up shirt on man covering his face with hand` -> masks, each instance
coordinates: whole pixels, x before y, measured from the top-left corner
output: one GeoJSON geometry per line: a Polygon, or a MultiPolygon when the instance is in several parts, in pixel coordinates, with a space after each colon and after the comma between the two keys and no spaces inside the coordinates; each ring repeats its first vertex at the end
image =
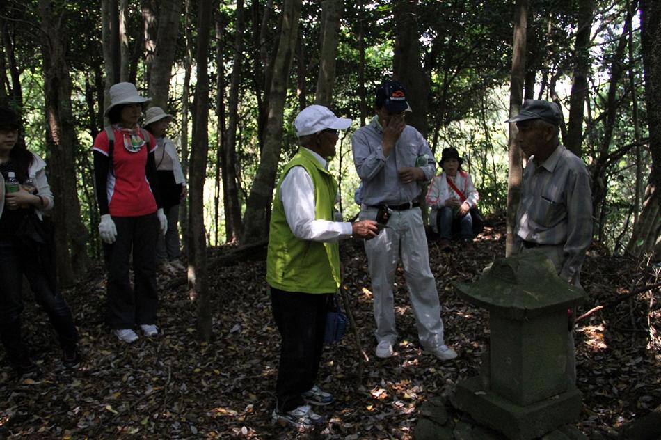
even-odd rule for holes
{"type": "Polygon", "coordinates": [[[351,138],[353,163],[363,181],[360,201],[375,206],[382,203],[400,205],[416,200],[422,190],[421,182],[403,183],[397,171],[407,166],[415,167],[418,158],[424,158],[426,164],[420,166],[420,169],[425,180],[431,180],[436,173],[436,161],[429,144],[411,125],[404,127],[388,157],[383,155],[382,142],[383,130],[376,118],[369,125],[356,130],[351,138]]]}

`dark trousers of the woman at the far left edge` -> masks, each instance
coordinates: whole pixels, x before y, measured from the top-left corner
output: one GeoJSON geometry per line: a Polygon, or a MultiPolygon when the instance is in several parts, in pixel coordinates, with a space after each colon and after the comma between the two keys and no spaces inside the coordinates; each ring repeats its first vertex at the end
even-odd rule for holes
{"type": "Polygon", "coordinates": [[[70,351],[78,343],[71,310],[57,286],[48,282],[37,253],[36,244],[26,246],[17,240],[0,241],[0,338],[8,360],[14,365],[28,356],[21,336],[23,275],[34,292],[35,301],[48,315],[62,349],[70,351]]]}

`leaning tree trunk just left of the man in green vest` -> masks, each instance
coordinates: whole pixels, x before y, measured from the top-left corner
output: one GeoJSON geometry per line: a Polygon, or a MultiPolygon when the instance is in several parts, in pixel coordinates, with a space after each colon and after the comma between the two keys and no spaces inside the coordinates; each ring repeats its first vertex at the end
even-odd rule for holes
{"type": "Polygon", "coordinates": [[[260,166],[250,188],[244,216],[243,244],[264,239],[269,234],[269,212],[273,186],[282,149],[282,123],[284,119],[287,79],[292,65],[292,53],[296,48],[298,17],[301,15],[301,0],[285,0],[282,6],[282,26],[278,52],[273,61],[273,74],[269,88],[269,108],[264,129],[264,149],[260,166]]]}

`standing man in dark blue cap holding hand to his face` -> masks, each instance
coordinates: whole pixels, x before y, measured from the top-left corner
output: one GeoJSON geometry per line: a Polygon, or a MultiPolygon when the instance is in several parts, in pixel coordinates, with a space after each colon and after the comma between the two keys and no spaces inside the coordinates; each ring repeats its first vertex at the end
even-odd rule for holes
{"type": "Polygon", "coordinates": [[[401,258],[420,345],[441,361],[448,361],[456,358],[456,352],[444,342],[420,211],[422,183],[433,178],[436,162],[422,134],[404,121],[404,112],[411,111],[404,86],[397,81],[381,84],[375,109],[372,122],[358,129],[351,143],[353,162],[362,180],[360,219],[376,219],[382,228],[379,235],[365,242],[374,294],[376,356],[392,356],[397,340],[392,286],[401,258]]]}

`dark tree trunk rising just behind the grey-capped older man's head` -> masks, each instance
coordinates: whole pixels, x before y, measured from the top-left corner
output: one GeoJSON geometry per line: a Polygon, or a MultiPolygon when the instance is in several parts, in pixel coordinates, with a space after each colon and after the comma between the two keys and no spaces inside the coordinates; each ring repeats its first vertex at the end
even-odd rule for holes
{"type": "Polygon", "coordinates": [[[583,141],[583,110],[588,93],[587,75],[590,70],[590,31],[594,0],[578,3],[578,31],[574,43],[574,73],[569,101],[567,136],[562,140],[571,152],[581,157],[583,141]]]}

